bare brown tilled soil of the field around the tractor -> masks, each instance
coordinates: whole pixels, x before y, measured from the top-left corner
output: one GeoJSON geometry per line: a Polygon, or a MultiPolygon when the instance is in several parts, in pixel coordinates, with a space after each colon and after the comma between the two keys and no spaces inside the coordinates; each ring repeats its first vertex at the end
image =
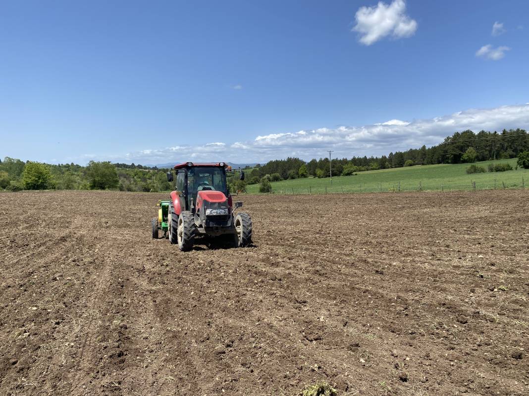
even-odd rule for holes
{"type": "Polygon", "coordinates": [[[150,238],[165,194],[0,194],[0,394],[529,394],[526,191],[247,196],[254,246],[150,238]]]}

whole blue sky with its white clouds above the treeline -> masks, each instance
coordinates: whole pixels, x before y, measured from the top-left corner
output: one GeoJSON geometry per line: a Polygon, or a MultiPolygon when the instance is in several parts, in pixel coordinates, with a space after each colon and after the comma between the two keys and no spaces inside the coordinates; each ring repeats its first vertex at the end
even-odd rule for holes
{"type": "Polygon", "coordinates": [[[0,157],[263,162],[529,128],[528,14],[525,0],[4,1],[0,157]]]}

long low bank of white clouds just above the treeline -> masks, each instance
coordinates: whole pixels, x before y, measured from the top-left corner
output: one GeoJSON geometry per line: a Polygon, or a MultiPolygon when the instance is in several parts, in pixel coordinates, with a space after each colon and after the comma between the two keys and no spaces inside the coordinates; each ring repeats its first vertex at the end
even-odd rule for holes
{"type": "MultiPolygon", "coordinates": [[[[529,103],[491,109],[470,109],[432,119],[389,120],[362,127],[341,126],[257,136],[248,142],[208,143],[202,146],[179,146],[149,149],[114,158],[136,164],[163,164],[177,161],[266,162],[270,159],[297,156],[319,158],[325,150],[338,157],[382,155],[439,144],[445,136],[465,129],[501,130],[529,128],[529,103]]],[[[108,159],[108,158],[106,158],[108,159]]]]}

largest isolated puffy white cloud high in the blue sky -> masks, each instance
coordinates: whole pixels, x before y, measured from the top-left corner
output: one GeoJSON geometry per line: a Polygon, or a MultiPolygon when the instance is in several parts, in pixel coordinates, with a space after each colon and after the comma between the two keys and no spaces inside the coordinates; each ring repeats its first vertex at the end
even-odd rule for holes
{"type": "Polygon", "coordinates": [[[376,6],[360,7],[355,14],[353,31],[361,34],[360,42],[371,45],[391,35],[397,39],[412,36],[417,22],[406,15],[406,2],[394,0],[391,4],[379,2],[376,6]]]}

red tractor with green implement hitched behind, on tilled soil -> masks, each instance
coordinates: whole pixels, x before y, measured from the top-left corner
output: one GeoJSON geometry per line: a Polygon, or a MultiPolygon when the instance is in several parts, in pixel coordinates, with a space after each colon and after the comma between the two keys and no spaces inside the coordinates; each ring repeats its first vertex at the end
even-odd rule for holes
{"type": "MultiPolygon", "coordinates": [[[[233,213],[242,202],[233,205],[226,172],[231,166],[223,162],[175,165],[167,172],[167,180],[174,181],[176,190],[169,201],[160,201],[158,218],[152,219],[152,238],[159,230],[180,250],[193,248],[195,237],[222,237],[233,247],[247,247],[252,243],[252,219],[247,213],[233,213]]],[[[241,180],[244,171],[241,170],[241,180]]]]}

